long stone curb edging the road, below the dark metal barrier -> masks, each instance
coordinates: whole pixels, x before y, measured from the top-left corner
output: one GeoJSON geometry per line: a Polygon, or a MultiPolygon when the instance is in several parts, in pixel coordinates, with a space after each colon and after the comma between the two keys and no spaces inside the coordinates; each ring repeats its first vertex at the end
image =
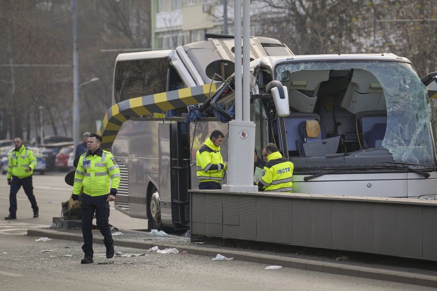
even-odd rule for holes
{"type": "MultiPolygon", "coordinates": [[[[71,241],[82,241],[82,234],[64,233],[55,230],[29,229],[27,236],[43,236],[53,239],[63,239],[71,241]]],[[[98,240],[95,243],[103,244],[98,240]]],[[[150,249],[158,246],[160,249],[177,248],[180,252],[187,251],[189,254],[215,257],[220,253],[226,257],[233,257],[235,260],[254,262],[268,265],[280,265],[283,267],[311,270],[324,273],[349,275],[362,278],[378,279],[398,283],[413,284],[427,287],[437,287],[437,276],[421,275],[408,272],[398,272],[391,270],[382,270],[377,268],[351,266],[339,263],[321,262],[315,260],[306,260],[298,258],[289,258],[277,255],[257,254],[245,251],[230,251],[225,249],[197,248],[190,246],[180,246],[172,244],[152,244],[148,242],[117,240],[114,239],[114,246],[131,247],[137,249],[150,249]]]]}

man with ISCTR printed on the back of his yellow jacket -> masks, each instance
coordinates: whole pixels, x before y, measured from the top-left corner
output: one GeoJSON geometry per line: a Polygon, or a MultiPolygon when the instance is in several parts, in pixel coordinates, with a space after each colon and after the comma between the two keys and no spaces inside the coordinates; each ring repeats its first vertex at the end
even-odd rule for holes
{"type": "Polygon", "coordinates": [[[259,190],[292,192],[293,163],[282,157],[274,143],[269,143],[263,148],[262,156],[267,159],[267,163],[264,166],[262,179],[258,182],[259,190]]]}

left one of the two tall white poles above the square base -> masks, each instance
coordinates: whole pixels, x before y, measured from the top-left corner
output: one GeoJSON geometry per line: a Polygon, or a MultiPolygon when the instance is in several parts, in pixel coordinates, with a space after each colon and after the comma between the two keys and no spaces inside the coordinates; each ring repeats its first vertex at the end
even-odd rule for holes
{"type": "Polygon", "coordinates": [[[241,73],[241,0],[234,2],[235,42],[235,120],[243,120],[242,73],[241,73]]]}

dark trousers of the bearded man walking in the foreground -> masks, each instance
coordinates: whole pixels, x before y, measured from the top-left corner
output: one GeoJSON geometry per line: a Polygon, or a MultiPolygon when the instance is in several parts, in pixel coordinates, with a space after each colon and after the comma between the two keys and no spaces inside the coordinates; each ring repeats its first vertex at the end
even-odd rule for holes
{"type": "Polygon", "coordinates": [[[103,235],[103,242],[106,248],[110,248],[113,245],[111,228],[109,227],[109,202],[108,195],[102,196],[89,196],[85,193],[82,194],[82,235],[84,237],[84,245],[82,250],[85,256],[93,256],[93,217],[96,213],[97,227],[100,233],[103,235]]]}

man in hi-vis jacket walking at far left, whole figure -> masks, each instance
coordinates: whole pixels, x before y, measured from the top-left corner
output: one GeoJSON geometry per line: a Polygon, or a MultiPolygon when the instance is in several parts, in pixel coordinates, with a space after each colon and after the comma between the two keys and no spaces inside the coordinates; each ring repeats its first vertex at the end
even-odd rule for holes
{"type": "Polygon", "coordinates": [[[9,154],[8,185],[11,185],[9,192],[9,216],[6,220],[17,219],[17,192],[23,186],[24,192],[30,201],[33,209],[33,217],[39,216],[38,205],[33,195],[32,174],[37,160],[33,152],[23,145],[23,139],[14,139],[15,149],[9,154]]]}

